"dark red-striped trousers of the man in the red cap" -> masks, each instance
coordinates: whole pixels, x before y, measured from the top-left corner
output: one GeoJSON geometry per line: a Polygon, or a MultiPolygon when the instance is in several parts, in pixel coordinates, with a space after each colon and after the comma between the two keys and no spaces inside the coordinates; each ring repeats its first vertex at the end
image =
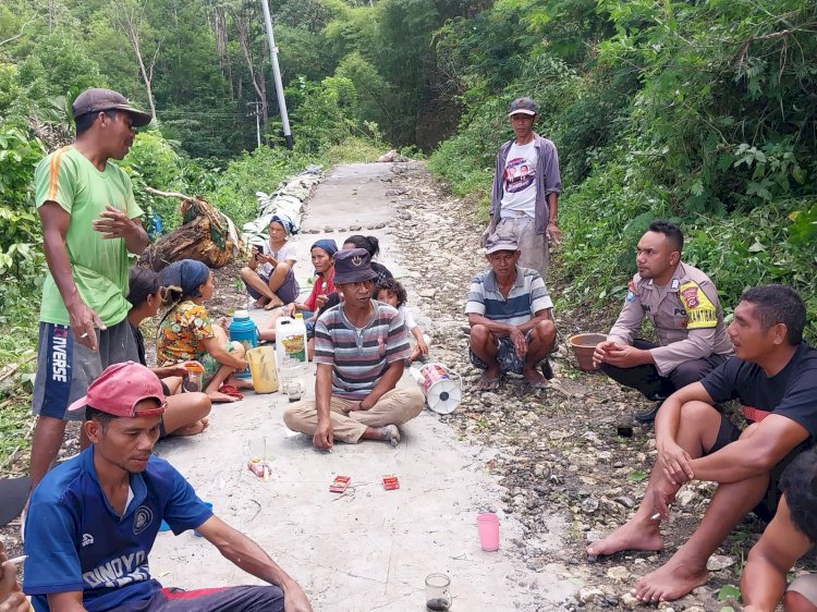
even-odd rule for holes
{"type": "Polygon", "coordinates": [[[278,587],[223,587],[183,590],[163,588],[148,599],[119,605],[109,612],[283,612],[278,587]]]}

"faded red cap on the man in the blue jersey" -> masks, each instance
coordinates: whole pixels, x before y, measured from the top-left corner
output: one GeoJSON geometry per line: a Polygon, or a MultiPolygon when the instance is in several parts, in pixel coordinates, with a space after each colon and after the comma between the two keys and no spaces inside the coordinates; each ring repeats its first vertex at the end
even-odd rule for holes
{"type": "Polygon", "coordinates": [[[105,368],[88,387],[88,393],[69,406],[78,411],[90,406],[113,416],[154,416],[164,412],[164,392],[159,378],[142,364],[124,362],[105,368]],[[136,412],[143,400],[156,400],[158,408],[136,412]]]}

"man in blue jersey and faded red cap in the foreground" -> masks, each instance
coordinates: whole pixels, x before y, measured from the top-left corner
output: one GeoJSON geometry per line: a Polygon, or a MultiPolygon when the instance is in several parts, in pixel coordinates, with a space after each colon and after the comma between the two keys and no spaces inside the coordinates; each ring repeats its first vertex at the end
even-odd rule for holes
{"type": "Polygon", "coordinates": [[[154,372],[133,362],[112,365],[69,407],[82,408],[93,445],[46,475],[26,515],[23,590],[36,612],[312,612],[301,587],[258,544],[151,455],[164,411],[154,372]],[[196,529],[275,586],[162,588],[148,568],[162,518],[176,535],[196,529]]]}

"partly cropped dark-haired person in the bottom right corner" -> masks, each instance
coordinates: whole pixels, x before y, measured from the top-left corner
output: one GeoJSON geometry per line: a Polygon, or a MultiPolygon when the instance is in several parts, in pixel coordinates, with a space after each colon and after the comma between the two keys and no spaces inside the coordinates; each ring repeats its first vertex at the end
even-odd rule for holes
{"type": "Polygon", "coordinates": [[[817,542],[817,452],[801,453],[780,479],[778,512],[752,547],[741,575],[743,612],[817,612],[817,574],[796,577],[786,588],[785,574],[817,542]]]}

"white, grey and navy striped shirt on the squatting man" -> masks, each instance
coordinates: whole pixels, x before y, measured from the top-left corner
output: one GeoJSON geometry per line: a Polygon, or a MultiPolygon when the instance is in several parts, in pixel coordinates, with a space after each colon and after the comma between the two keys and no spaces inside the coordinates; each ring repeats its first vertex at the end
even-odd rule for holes
{"type": "Polygon", "coordinates": [[[521,326],[534,318],[539,310],[552,308],[548,289],[541,274],[531,268],[516,266],[516,280],[513,282],[508,299],[497,286],[493,270],[479,272],[471,281],[466,315],[483,315],[492,321],[521,326]]]}

